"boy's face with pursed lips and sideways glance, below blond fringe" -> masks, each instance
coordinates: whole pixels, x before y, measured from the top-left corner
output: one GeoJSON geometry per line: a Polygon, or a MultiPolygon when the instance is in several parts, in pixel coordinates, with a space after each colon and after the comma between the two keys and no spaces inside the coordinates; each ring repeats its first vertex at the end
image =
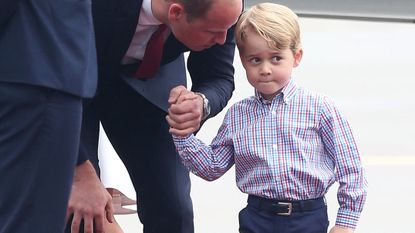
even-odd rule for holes
{"type": "Polygon", "coordinates": [[[275,50],[257,33],[248,29],[243,49],[239,50],[249,83],[265,99],[272,99],[291,79],[292,69],[300,64],[302,49],[275,50]]]}

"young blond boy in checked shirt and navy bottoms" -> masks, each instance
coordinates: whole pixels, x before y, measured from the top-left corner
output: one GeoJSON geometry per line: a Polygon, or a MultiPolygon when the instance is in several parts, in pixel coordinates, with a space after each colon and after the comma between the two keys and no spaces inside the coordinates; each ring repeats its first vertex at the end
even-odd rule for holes
{"type": "Polygon", "coordinates": [[[261,3],[242,14],[235,35],[255,96],[228,110],[210,146],[183,135],[168,116],[183,163],[206,180],[235,164],[237,185],[249,194],[240,232],[327,232],[324,195],[335,181],[340,208],[330,233],[353,232],[366,179],[346,119],[327,97],[291,80],[303,54],[297,16],[261,3]]]}

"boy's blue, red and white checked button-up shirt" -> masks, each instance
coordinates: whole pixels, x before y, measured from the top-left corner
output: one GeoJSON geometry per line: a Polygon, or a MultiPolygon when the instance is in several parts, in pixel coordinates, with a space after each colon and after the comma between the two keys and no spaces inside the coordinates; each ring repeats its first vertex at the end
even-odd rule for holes
{"type": "Polygon", "coordinates": [[[233,105],[210,146],[194,135],[173,138],[184,165],[203,179],[215,180],[235,164],[247,194],[307,200],[337,181],[336,225],[356,227],[367,182],[349,124],[327,97],[290,81],[272,101],[256,92],[233,105]]]}

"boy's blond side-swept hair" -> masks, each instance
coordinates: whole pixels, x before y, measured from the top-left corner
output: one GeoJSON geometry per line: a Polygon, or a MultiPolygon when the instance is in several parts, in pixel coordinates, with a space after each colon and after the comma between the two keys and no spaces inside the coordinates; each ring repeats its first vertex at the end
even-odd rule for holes
{"type": "Polygon", "coordinates": [[[298,16],[283,5],[260,3],[241,15],[235,29],[236,44],[240,51],[243,51],[247,39],[246,30],[258,33],[272,49],[289,48],[295,53],[301,47],[298,16]]]}

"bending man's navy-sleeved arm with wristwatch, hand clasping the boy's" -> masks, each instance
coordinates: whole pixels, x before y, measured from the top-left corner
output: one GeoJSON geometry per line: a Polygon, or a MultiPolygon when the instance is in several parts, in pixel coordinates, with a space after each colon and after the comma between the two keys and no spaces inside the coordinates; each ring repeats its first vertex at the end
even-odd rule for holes
{"type": "Polygon", "coordinates": [[[184,86],[175,87],[170,91],[168,100],[170,108],[166,119],[175,134],[185,136],[197,132],[204,120],[215,116],[226,106],[235,88],[234,52],[232,27],[223,45],[190,53],[187,66],[192,78],[192,89],[189,91],[184,86]],[[209,109],[207,116],[204,114],[206,102],[209,109]]]}

